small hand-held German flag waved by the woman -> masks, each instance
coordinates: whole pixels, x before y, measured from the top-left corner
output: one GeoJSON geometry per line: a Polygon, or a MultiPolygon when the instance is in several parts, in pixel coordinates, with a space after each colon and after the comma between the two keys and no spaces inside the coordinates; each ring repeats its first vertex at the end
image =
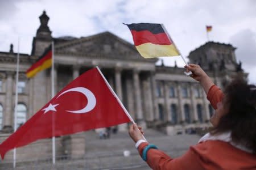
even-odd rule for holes
{"type": "Polygon", "coordinates": [[[179,56],[171,37],[163,24],[126,24],[133,35],[134,45],[144,58],[179,56]]]}

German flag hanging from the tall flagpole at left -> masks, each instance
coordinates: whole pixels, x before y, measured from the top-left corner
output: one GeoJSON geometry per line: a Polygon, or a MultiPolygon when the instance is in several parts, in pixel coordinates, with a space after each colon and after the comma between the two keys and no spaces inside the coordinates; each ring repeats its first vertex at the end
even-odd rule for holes
{"type": "Polygon", "coordinates": [[[50,45],[41,57],[27,70],[27,78],[32,78],[38,72],[48,69],[52,66],[52,46],[50,45]]]}

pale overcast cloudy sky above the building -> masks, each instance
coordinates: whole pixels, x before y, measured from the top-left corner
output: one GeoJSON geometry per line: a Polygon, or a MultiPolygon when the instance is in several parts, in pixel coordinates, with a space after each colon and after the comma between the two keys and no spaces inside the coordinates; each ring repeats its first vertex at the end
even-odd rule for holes
{"type": "MultiPolygon", "coordinates": [[[[205,25],[212,25],[210,40],[237,47],[237,61],[256,83],[256,1],[5,1],[0,0],[0,51],[10,44],[31,53],[39,16],[46,10],[53,37],[89,36],[110,31],[133,43],[122,23],[163,23],[184,57],[207,41],[205,25]]],[[[165,57],[166,65],[184,63],[181,57],[165,57]]]]}

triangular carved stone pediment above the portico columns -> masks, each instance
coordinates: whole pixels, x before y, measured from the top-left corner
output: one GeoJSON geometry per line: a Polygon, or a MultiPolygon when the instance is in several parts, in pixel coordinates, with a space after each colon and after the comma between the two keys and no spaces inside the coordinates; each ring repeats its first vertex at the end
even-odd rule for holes
{"type": "Polygon", "coordinates": [[[84,57],[93,56],[94,58],[143,60],[145,62],[155,62],[156,60],[144,59],[132,44],[110,32],[81,37],[80,39],[58,44],[55,46],[55,53],[84,57]]]}

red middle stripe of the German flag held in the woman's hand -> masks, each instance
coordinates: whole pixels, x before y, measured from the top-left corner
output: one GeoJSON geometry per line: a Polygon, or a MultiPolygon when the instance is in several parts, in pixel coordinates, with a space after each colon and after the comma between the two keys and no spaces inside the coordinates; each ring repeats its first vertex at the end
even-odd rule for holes
{"type": "Polygon", "coordinates": [[[151,42],[152,44],[159,45],[171,45],[172,42],[168,39],[166,33],[152,33],[150,31],[134,31],[131,30],[131,34],[133,35],[134,45],[138,46],[147,42],[151,42]]]}

